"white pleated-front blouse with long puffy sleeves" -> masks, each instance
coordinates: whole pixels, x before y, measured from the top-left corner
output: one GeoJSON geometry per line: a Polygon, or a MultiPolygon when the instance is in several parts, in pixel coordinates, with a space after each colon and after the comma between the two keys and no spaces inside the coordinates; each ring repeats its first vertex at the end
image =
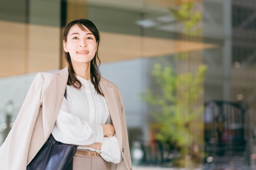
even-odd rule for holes
{"type": "Polygon", "coordinates": [[[52,135],[56,141],[80,145],[78,149],[98,152],[104,160],[117,164],[122,160],[122,154],[116,134],[103,136],[102,125],[112,124],[106,100],[96,93],[90,80],[77,78],[82,87],[78,90],[66,86],[67,99],[63,97],[52,135]],[[101,150],[85,146],[93,143],[102,143],[101,150]]]}

